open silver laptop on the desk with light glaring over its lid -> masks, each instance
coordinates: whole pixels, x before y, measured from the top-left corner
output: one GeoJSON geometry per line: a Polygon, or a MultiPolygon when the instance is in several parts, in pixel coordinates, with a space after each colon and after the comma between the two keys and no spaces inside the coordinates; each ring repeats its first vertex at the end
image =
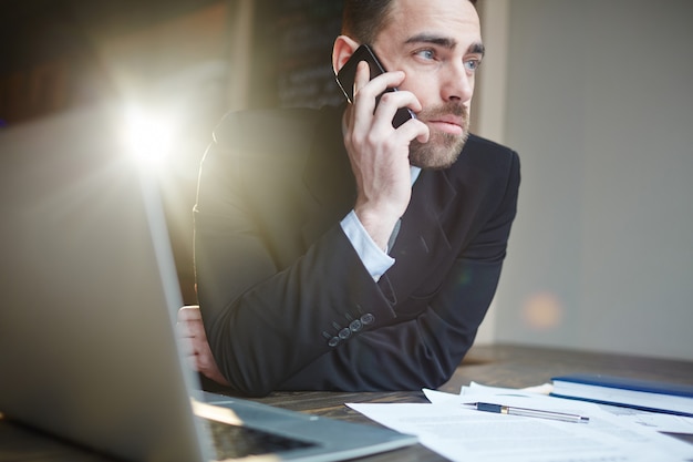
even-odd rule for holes
{"type": "Polygon", "coordinates": [[[415,443],[199,390],[175,336],[158,188],[121,125],[93,109],[0,132],[0,412],[131,461],[333,461],[415,443]],[[236,438],[229,453],[214,434],[236,438]]]}

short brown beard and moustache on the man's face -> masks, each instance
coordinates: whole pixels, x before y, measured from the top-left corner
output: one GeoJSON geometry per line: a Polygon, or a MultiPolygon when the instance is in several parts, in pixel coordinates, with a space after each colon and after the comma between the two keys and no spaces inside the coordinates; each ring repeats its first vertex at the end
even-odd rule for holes
{"type": "Polygon", "coordinates": [[[469,136],[469,114],[467,107],[458,103],[448,103],[424,110],[417,114],[423,122],[444,115],[462,117],[462,134],[431,131],[427,143],[413,140],[410,144],[410,164],[421,168],[447,168],[452,166],[469,136]]]}

